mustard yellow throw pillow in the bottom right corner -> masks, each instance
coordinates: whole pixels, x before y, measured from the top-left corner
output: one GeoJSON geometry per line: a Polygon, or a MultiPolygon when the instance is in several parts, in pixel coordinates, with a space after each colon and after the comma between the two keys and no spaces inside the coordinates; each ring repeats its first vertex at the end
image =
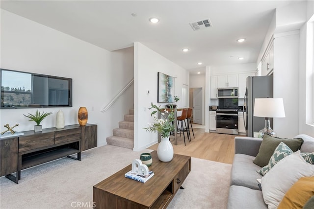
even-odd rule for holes
{"type": "Polygon", "coordinates": [[[302,177],[285,194],[278,209],[302,209],[314,196],[314,176],[302,177]]]}

